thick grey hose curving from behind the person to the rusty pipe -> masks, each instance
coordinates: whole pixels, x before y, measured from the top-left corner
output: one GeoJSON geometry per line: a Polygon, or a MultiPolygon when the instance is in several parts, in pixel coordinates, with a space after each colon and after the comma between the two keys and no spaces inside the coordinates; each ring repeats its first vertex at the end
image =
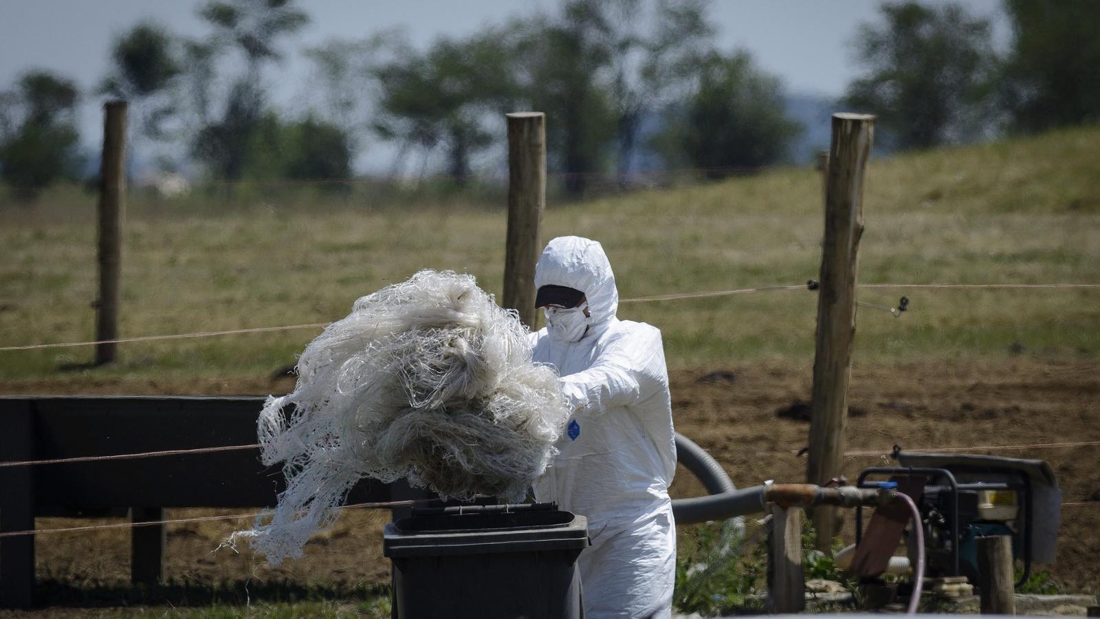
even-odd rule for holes
{"type": "Polygon", "coordinates": [[[711,454],[707,454],[706,449],[680,433],[676,433],[675,441],[676,460],[697,477],[711,495],[691,499],[674,499],[672,501],[672,515],[675,521],[680,524],[691,524],[734,518],[734,525],[744,534],[745,519],[743,514],[761,511],[762,487],[738,492],[737,486],[726,475],[722,465],[711,454]]]}

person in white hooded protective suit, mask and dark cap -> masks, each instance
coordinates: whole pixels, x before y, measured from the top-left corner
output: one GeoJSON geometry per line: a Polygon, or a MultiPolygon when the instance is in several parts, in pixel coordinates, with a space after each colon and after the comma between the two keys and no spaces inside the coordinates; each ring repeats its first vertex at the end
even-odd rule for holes
{"type": "Polygon", "coordinates": [[[550,241],[535,285],[547,327],[531,334],[534,359],[558,370],[573,411],[535,496],[588,519],[585,617],[669,617],[676,450],[661,332],[615,316],[615,275],[596,241],[550,241]]]}

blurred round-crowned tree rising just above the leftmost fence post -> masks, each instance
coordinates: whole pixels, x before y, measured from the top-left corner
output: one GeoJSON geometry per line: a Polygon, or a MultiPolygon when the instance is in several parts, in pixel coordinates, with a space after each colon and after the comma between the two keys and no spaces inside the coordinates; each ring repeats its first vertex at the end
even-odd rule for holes
{"type": "Polygon", "coordinates": [[[129,101],[138,123],[132,138],[163,139],[176,111],[172,88],[183,73],[172,34],[154,22],[139,23],[114,39],[111,62],[99,93],[129,101]]]}

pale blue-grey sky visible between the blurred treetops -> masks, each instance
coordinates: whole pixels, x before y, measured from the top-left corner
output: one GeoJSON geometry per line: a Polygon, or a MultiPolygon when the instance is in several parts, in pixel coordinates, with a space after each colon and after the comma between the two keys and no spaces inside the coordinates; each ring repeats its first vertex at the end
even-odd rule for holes
{"type": "MultiPolygon", "coordinates": [[[[946,0],[927,0],[943,4],[946,0]]],[[[780,76],[796,94],[838,96],[859,73],[849,41],[861,22],[877,19],[879,0],[715,0],[711,15],[722,48],[749,50],[759,65],[780,76]]],[[[90,91],[108,68],[111,40],[143,19],[154,19],[186,36],[208,26],[193,0],[0,0],[0,90],[31,67],[68,76],[90,91]]],[[[994,44],[1003,46],[1009,26],[1000,0],[967,0],[971,14],[992,20],[994,44]]],[[[462,36],[557,3],[537,0],[307,0],[300,6],[310,24],[270,72],[276,101],[292,106],[309,76],[300,50],[331,39],[363,39],[403,28],[418,47],[437,36],[462,36]]],[[[85,98],[79,115],[81,141],[95,148],[102,135],[101,101],[85,98]]]]}

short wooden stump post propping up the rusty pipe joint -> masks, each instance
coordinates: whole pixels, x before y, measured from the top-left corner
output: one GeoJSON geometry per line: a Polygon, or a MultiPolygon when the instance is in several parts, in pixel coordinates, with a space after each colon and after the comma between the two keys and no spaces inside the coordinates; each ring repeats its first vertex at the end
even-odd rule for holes
{"type": "Polygon", "coordinates": [[[771,507],[771,543],[768,565],[771,611],[801,612],[806,605],[806,582],[802,567],[802,508],[771,507]]]}

